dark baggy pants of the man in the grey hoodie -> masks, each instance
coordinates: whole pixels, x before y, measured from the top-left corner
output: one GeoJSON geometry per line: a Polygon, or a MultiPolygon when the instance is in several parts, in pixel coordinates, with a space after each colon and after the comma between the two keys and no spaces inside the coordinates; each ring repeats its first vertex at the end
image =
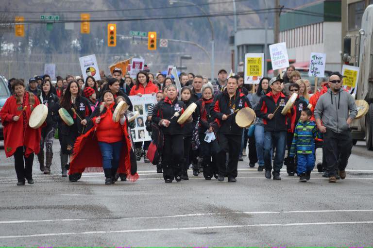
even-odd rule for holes
{"type": "Polygon", "coordinates": [[[336,176],[336,171],[344,170],[351,155],[352,136],[350,131],[340,133],[329,129],[324,133],[324,149],[328,176],[336,176]]]}

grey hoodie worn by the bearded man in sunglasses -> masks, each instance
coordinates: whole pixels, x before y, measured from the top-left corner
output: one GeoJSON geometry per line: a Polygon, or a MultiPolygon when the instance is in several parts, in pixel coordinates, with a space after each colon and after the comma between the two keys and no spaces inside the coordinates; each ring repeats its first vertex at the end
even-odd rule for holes
{"type": "Polygon", "coordinates": [[[331,89],[323,94],[317,101],[315,119],[322,119],[322,125],[333,132],[347,131],[347,118],[355,118],[357,108],[354,98],[342,88],[337,93],[331,89]]]}

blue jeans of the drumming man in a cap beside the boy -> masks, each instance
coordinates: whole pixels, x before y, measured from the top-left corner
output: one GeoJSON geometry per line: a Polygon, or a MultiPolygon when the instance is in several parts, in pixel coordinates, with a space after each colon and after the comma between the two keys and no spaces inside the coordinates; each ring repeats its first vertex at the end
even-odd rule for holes
{"type": "MultiPolygon", "coordinates": [[[[255,128],[256,129],[256,128],[255,128]]],[[[273,173],[280,174],[282,165],[284,164],[285,149],[286,149],[286,131],[280,132],[264,132],[264,166],[266,170],[272,169],[271,150],[274,145],[276,154],[273,161],[273,173]]]]}

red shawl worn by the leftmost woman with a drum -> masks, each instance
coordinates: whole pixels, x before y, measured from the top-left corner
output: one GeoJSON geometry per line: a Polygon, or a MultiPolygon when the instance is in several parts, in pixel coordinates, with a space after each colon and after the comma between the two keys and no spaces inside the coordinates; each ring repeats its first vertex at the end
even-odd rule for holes
{"type": "Polygon", "coordinates": [[[26,120],[23,120],[22,105],[17,104],[15,96],[8,98],[0,111],[2,125],[4,126],[4,147],[5,155],[12,156],[18,147],[25,146],[25,155],[28,157],[30,154],[39,153],[40,151],[40,132],[41,128],[32,129],[29,126],[29,119],[31,112],[40,104],[39,99],[34,96],[34,104],[30,105],[30,93],[25,92],[26,100],[24,106],[27,106],[26,120]],[[18,121],[13,120],[13,116],[19,116],[18,121]]]}

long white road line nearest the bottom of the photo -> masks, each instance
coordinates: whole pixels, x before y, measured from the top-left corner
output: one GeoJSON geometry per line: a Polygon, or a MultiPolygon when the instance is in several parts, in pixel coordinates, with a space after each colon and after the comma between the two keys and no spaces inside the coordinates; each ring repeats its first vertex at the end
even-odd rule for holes
{"type": "Polygon", "coordinates": [[[310,225],[317,226],[317,225],[356,225],[356,224],[373,224],[373,221],[274,223],[274,224],[249,224],[249,225],[231,225],[231,226],[134,229],[134,230],[117,230],[117,231],[60,232],[60,233],[41,233],[41,234],[29,234],[29,235],[0,236],[0,239],[47,237],[47,236],[50,237],[50,236],[66,236],[66,235],[85,235],[85,234],[129,233],[129,232],[186,231],[186,230],[211,230],[211,229],[249,228],[249,227],[289,227],[289,226],[310,226],[310,225]]]}

